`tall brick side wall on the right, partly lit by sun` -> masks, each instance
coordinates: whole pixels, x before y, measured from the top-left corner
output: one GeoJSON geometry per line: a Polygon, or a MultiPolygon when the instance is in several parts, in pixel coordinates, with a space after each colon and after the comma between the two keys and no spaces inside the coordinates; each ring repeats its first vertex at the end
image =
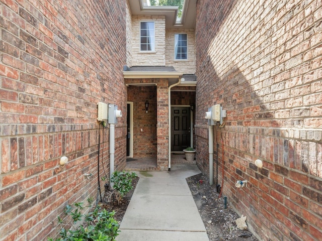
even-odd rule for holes
{"type": "Polygon", "coordinates": [[[197,2],[198,165],[208,172],[204,113],[220,103],[218,181],[223,148],[223,194],[262,240],[322,237],[321,13],[313,0],[197,2]]]}

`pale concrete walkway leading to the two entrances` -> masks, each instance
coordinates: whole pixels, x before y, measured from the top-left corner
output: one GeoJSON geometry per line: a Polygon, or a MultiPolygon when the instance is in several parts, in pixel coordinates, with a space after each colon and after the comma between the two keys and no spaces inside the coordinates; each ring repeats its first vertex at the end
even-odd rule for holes
{"type": "Polygon", "coordinates": [[[196,165],[174,165],[171,172],[137,172],[139,181],[117,241],[209,241],[186,178],[196,165]]]}

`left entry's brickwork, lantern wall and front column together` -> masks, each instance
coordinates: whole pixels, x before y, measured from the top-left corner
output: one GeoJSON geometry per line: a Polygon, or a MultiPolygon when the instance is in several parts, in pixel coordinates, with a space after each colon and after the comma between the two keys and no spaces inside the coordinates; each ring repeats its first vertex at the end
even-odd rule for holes
{"type": "Polygon", "coordinates": [[[125,82],[155,85],[128,87],[128,101],[133,101],[134,107],[133,156],[156,157],[156,167],[166,170],[169,160],[168,79],[126,79],[125,82]],[[148,113],[145,113],[145,100],[150,103],[148,113]]]}

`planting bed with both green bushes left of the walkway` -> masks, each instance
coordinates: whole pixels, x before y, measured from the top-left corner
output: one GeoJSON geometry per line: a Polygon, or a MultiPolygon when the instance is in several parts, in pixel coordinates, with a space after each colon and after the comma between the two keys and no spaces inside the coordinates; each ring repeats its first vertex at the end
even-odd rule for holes
{"type": "MultiPolygon", "coordinates": [[[[124,216],[130,200],[126,195],[136,186],[137,175],[116,171],[111,181],[113,189],[106,190],[102,202],[93,207],[88,214],[84,214],[86,206],[83,202],[66,205],[65,216],[57,217],[60,225],[59,234],[55,238],[49,237],[48,241],[114,241],[122,220],[119,216],[115,217],[115,209],[122,210],[121,216],[124,216]],[[123,206],[124,210],[118,206],[123,206]]],[[[93,198],[89,198],[87,207],[90,207],[92,202],[93,198]]]]}

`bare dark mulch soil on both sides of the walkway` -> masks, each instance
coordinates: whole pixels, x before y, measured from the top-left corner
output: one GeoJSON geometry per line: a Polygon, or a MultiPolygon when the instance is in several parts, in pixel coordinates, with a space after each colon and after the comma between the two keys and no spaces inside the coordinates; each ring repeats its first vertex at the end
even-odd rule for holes
{"type": "MultiPolygon", "coordinates": [[[[125,214],[126,208],[131,200],[133,191],[138,182],[138,178],[133,179],[133,189],[123,198],[120,204],[116,200],[111,199],[110,192],[107,191],[103,197],[102,207],[111,211],[115,210],[114,218],[121,222],[125,214]]],[[[210,241],[254,241],[258,240],[250,231],[239,230],[236,228],[235,220],[239,216],[227,204],[224,208],[223,197],[218,198],[214,186],[209,185],[209,179],[203,174],[187,178],[190,191],[198,207],[200,216],[207,229],[207,234],[210,241]]]]}

